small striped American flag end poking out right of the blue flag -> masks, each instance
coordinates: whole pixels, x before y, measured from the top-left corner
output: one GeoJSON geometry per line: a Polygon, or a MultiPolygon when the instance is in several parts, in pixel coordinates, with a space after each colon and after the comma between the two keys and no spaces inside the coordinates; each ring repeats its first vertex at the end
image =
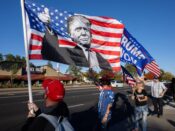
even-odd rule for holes
{"type": "Polygon", "coordinates": [[[156,76],[160,76],[161,72],[160,72],[160,68],[157,65],[156,61],[153,60],[152,62],[150,62],[149,64],[147,64],[145,66],[145,69],[147,69],[148,71],[152,72],[154,75],[156,76]]]}

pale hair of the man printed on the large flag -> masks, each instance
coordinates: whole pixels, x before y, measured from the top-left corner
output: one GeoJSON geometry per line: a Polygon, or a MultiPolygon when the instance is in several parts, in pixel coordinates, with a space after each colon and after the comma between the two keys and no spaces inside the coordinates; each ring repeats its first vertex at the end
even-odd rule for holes
{"type": "Polygon", "coordinates": [[[82,21],[84,24],[87,25],[87,27],[90,27],[91,26],[91,22],[84,16],[81,16],[81,15],[73,15],[71,17],[68,18],[68,21],[67,21],[67,32],[70,34],[70,26],[72,25],[72,23],[74,21],[82,21]]]}

